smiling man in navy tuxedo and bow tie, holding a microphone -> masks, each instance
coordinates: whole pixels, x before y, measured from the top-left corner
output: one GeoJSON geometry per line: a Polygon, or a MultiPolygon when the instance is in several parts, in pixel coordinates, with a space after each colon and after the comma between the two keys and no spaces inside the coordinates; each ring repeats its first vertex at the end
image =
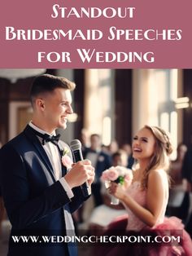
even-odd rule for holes
{"type": "Polygon", "coordinates": [[[61,164],[60,152],[72,155],[67,144],[57,144],[55,129],[67,126],[74,89],[63,77],[37,77],[31,89],[32,121],[0,151],[2,196],[12,225],[9,256],[77,255],[74,244],[55,242],[72,233],[71,213],[87,199],[79,186],[94,180],[88,160],[69,171],[61,164]],[[16,243],[12,236],[34,234],[39,236],[35,243],[16,243]],[[46,245],[44,235],[51,236],[52,243],[46,245]]]}

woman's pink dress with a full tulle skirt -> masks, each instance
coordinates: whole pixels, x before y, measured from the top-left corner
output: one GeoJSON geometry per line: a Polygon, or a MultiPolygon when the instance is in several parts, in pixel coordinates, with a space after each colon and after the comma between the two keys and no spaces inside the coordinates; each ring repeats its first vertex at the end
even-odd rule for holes
{"type": "MultiPolygon", "coordinates": [[[[127,192],[129,196],[132,196],[139,205],[146,207],[146,190],[141,189],[141,183],[135,181],[128,188],[127,192]]],[[[120,243],[98,246],[97,253],[95,255],[105,256],[192,256],[192,242],[190,236],[184,230],[184,226],[181,220],[176,217],[165,218],[165,210],[168,203],[168,199],[164,200],[162,210],[159,214],[159,221],[155,227],[148,227],[146,223],[143,223],[129,208],[125,206],[128,212],[128,222],[117,220],[116,223],[111,223],[109,229],[104,234],[105,236],[134,236],[146,237],[151,236],[150,242],[135,242],[122,245],[120,243]],[[124,227],[122,226],[122,223],[124,227]],[[156,243],[155,237],[178,237],[181,236],[181,241],[173,241],[170,243],[156,243]]],[[[138,240],[137,240],[138,241],[138,240]]]]}

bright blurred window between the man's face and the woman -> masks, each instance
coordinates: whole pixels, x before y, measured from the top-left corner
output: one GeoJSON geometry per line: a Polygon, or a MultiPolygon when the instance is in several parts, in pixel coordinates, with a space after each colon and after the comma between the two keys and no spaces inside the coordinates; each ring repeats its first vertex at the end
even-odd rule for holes
{"type": "Polygon", "coordinates": [[[114,71],[86,69],[85,74],[85,128],[102,135],[108,145],[115,134],[114,71]]]}

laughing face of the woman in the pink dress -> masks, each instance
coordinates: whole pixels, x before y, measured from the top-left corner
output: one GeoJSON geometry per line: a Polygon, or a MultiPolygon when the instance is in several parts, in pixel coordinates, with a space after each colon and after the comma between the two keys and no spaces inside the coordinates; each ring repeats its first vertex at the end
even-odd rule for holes
{"type": "Polygon", "coordinates": [[[137,160],[151,159],[155,152],[155,137],[151,130],[142,128],[133,138],[133,158],[137,160]]]}

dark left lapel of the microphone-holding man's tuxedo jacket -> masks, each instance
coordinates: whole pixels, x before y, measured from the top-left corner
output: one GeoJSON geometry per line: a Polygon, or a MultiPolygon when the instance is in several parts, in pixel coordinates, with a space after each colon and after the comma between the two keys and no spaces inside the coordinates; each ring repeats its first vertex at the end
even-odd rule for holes
{"type": "Polygon", "coordinates": [[[26,128],[24,129],[24,134],[31,141],[31,143],[33,143],[33,146],[37,149],[37,152],[39,153],[39,155],[41,157],[41,161],[43,161],[45,163],[46,168],[49,171],[52,179],[54,181],[56,181],[55,173],[54,173],[53,167],[50,163],[49,157],[47,157],[47,154],[46,154],[44,148],[42,147],[39,139],[37,139],[37,135],[35,135],[33,128],[31,128],[30,126],[26,126],[26,128]]]}

